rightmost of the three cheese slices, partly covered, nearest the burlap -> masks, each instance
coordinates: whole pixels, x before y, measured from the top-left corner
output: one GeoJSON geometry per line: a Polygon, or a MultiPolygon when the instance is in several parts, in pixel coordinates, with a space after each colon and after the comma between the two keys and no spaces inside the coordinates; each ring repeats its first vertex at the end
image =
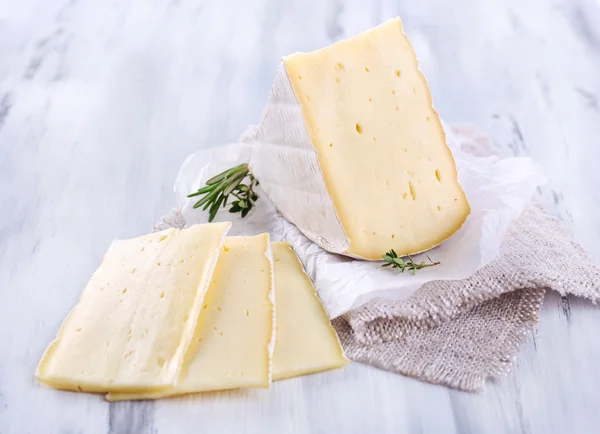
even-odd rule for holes
{"type": "Polygon", "coordinates": [[[277,337],[273,380],[344,366],[348,359],[302,263],[288,243],[273,243],[277,337]]]}

